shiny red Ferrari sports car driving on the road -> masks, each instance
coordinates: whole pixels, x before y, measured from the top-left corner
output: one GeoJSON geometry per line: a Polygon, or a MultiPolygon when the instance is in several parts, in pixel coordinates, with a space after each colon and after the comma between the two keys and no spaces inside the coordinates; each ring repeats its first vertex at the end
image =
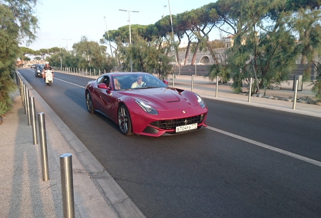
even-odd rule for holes
{"type": "Polygon", "coordinates": [[[87,110],[118,124],[124,135],[173,135],[206,127],[207,106],[191,91],[149,73],[107,73],[88,82],[87,110]]]}

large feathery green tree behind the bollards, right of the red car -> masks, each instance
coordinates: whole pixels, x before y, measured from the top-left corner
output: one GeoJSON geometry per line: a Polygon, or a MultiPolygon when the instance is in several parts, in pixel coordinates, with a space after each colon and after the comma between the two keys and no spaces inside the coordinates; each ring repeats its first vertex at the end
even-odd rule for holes
{"type": "Polygon", "coordinates": [[[287,80],[289,72],[294,68],[297,49],[293,31],[287,27],[291,13],[276,11],[283,8],[284,3],[265,0],[244,3],[246,5],[242,10],[248,13],[242,19],[247,20],[244,22],[247,29],[237,34],[239,40],[231,48],[230,60],[233,60],[234,55],[239,55],[240,49],[246,52],[247,57],[240,63],[242,67],[237,68],[243,73],[239,73],[231,63],[234,67],[232,77],[235,78],[233,87],[239,90],[240,80],[249,81],[249,77],[253,77],[253,89],[257,93],[271,83],[287,80]],[[267,16],[271,12],[274,17],[267,16]]]}

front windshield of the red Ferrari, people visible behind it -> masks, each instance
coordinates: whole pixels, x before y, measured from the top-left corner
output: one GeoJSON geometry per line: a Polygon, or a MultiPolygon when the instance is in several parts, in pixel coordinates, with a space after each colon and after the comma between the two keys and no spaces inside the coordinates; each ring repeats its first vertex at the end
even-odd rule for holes
{"type": "Polygon", "coordinates": [[[114,90],[168,87],[151,74],[119,75],[114,76],[112,81],[114,90]]]}

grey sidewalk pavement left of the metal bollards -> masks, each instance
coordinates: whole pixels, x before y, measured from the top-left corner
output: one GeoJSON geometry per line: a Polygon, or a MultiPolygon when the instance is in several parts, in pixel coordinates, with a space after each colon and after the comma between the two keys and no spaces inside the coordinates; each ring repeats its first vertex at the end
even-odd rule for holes
{"type": "MultiPolygon", "coordinates": [[[[63,217],[60,169],[48,147],[49,181],[42,181],[40,146],[20,93],[14,92],[13,110],[0,125],[0,217],[63,217]]],[[[76,217],[81,217],[76,207],[76,217]]]]}

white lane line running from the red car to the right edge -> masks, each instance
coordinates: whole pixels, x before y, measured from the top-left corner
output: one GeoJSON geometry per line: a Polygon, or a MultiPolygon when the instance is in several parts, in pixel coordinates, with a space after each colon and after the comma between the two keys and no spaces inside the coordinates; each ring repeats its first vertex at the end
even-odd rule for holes
{"type": "Polygon", "coordinates": [[[233,133],[229,133],[229,132],[217,129],[217,128],[213,128],[213,127],[210,127],[210,126],[207,126],[206,128],[210,129],[212,131],[216,131],[216,132],[222,133],[224,135],[228,135],[228,136],[231,136],[233,138],[237,138],[237,139],[240,139],[242,141],[245,141],[245,142],[248,142],[248,143],[263,147],[263,148],[266,148],[266,149],[270,149],[270,150],[273,150],[273,151],[276,151],[276,152],[279,152],[279,153],[282,153],[282,154],[285,154],[285,155],[288,155],[288,156],[291,156],[291,157],[294,157],[294,158],[297,158],[297,159],[300,159],[300,160],[303,160],[303,161],[306,161],[306,162],[309,162],[309,163],[312,163],[312,164],[314,164],[316,166],[321,167],[321,162],[320,161],[317,161],[317,160],[314,160],[314,159],[310,159],[310,158],[307,158],[305,156],[301,156],[301,155],[298,155],[298,154],[295,154],[295,153],[292,153],[292,152],[289,152],[289,151],[286,151],[286,150],[282,150],[282,149],[279,149],[279,148],[276,148],[276,147],[272,147],[270,145],[263,144],[261,142],[257,142],[257,141],[254,141],[254,140],[242,137],[242,136],[238,136],[238,135],[235,135],[233,133]]]}

